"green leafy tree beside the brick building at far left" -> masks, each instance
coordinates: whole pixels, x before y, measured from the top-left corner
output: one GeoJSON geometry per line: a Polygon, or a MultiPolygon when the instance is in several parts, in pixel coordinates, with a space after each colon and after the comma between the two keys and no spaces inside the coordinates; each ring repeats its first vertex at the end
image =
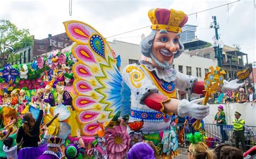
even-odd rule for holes
{"type": "Polygon", "coordinates": [[[33,45],[28,29],[18,29],[9,20],[0,20],[0,67],[19,61],[17,50],[33,45]]]}

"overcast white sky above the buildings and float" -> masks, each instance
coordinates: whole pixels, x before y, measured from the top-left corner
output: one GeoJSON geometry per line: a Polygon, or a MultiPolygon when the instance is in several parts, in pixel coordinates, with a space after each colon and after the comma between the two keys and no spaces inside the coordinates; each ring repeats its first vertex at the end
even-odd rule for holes
{"type": "MultiPolygon", "coordinates": [[[[69,0],[0,1],[0,19],[8,19],[19,28],[28,28],[35,39],[44,39],[48,34],[65,32],[62,24],[66,20],[80,20],[90,24],[104,37],[151,25],[147,12],[153,8],[182,10],[187,15],[231,1],[87,1],[72,0],[72,16],[69,16],[69,0]]],[[[241,0],[227,6],[189,16],[187,24],[197,25],[199,39],[211,41],[213,28],[209,27],[217,17],[219,34],[224,44],[239,44],[248,54],[249,62],[256,61],[255,8],[253,0],[241,0]],[[229,10],[229,11],[227,11],[229,10]]],[[[150,28],[122,34],[107,40],[139,44],[140,35],[149,34],[150,28]]]]}

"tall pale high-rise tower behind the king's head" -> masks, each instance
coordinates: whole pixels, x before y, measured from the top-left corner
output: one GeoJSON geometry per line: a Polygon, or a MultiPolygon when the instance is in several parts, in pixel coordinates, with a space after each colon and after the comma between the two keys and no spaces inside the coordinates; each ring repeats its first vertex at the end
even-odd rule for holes
{"type": "Polygon", "coordinates": [[[196,25],[186,24],[181,28],[182,32],[180,33],[180,41],[181,42],[190,42],[192,39],[196,38],[196,25]]]}

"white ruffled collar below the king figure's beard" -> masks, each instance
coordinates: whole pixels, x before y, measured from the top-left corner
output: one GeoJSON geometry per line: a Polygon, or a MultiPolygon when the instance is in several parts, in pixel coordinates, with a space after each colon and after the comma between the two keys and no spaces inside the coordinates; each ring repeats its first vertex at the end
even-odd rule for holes
{"type": "Polygon", "coordinates": [[[177,79],[177,71],[174,69],[159,69],[153,66],[152,63],[147,61],[139,61],[139,64],[143,64],[149,71],[155,71],[159,79],[163,79],[166,82],[175,81],[177,79]]]}

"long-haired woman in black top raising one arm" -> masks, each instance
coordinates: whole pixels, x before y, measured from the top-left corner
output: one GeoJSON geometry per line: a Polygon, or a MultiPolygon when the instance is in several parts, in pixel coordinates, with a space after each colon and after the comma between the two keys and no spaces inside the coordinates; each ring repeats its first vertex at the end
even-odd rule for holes
{"type": "MultiPolygon", "coordinates": [[[[40,100],[40,99],[39,99],[40,100]]],[[[40,112],[37,120],[28,112],[23,115],[23,126],[19,128],[16,142],[21,142],[23,138],[22,147],[38,147],[40,124],[43,118],[43,103],[40,102],[40,112]]]]}

